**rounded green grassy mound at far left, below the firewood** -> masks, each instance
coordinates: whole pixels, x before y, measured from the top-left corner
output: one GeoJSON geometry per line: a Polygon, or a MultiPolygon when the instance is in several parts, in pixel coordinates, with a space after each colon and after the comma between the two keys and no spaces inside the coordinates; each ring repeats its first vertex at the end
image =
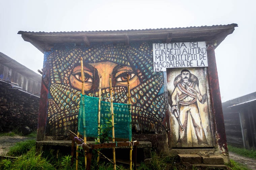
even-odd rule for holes
{"type": "Polygon", "coordinates": [[[16,143],[13,147],[10,148],[7,153],[8,156],[21,156],[26,154],[32,147],[36,145],[36,140],[29,139],[16,143]]]}

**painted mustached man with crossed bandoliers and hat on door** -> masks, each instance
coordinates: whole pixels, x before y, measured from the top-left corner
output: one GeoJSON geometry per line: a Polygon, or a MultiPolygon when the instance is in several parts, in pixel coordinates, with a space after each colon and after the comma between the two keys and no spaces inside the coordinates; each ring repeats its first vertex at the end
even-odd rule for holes
{"type": "Polygon", "coordinates": [[[181,144],[187,143],[188,141],[187,132],[191,130],[190,127],[188,127],[189,119],[192,120],[193,126],[191,125],[191,127],[195,129],[198,145],[205,143],[205,134],[197,100],[204,104],[207,97],[206,94],[201,95],[198,84],[198,78],[186,69],[182,70],[181,74],[174,79],[175,88],[171,95],[171,112],[175,115],[180,125],[178,143],[181,144]]]}

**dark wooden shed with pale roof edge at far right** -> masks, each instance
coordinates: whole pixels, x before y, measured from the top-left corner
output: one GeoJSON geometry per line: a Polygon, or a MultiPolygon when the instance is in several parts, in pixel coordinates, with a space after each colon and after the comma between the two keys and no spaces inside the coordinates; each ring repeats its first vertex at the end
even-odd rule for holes
{"type": "Polygon", "coordinates": [[[222,103],[228,144],[256,148],[256,92],[222,103]]]}

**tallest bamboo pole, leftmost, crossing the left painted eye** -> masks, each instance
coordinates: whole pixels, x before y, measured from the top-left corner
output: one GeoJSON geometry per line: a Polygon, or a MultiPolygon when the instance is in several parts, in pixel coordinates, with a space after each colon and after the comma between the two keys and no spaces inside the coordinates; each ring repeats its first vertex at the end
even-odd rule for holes
{"type": "MultiPolygon", "coordinates": [[[[83,105],[83,125],[84,125],[84,143],[87,143],[86,139],[86,124],[85,124],[85,100],[84,100],[84,95],[85,95],[85,76],[84,76],[84,64],[83,64],[83,57],[80,58],[81,62],[81,79],[82,79],[82,105],[83,105]]],[[[76,147],[77,149],[77,147],[76,147]]],[[[77,149],[78,150],[78,149],[77,149]]],[[[87,156],[86,156],[86,151],[85,151],[85,167],[87,165],[87,156]]]]}

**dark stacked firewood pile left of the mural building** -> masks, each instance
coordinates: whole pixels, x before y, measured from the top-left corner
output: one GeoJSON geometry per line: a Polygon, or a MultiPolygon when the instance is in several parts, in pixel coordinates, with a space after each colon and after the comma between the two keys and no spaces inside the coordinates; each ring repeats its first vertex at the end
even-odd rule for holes
{"type": "Polygon", "coordinates": [[[0,82],[0,132],[37,129],[39,97],[0,82]]]}

